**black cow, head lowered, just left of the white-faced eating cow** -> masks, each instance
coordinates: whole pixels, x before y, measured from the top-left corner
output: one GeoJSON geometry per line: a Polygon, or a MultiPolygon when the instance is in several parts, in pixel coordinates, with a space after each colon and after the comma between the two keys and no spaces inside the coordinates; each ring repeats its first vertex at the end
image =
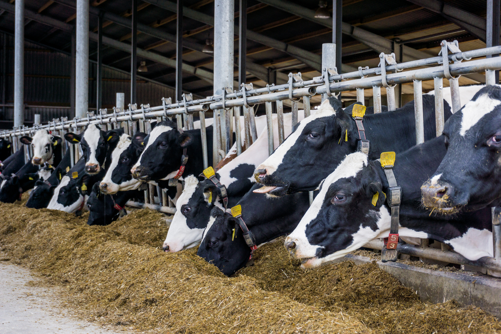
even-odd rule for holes
{"type": "MultiPolygon", "coordinates": [[[[35,182],[35,187],[30,193],[30,198],[28,198],[28,201],[26,202],[26,207],[33,208],[33,209],[42,209],[46,208],[49,205],[49,202],[54,195],[54,189],[59,185],[59,181],[63,178],[63,176],[66,175],[66,171],[70,171],[70,165],[71,165],[71,151],[67,150],[66,154],[63,157],[63,160],[61,160],[61,163],[57,165],[55,171],[46,178],[44,181],[38,180],[35,182]]],[[[80,159],[77,164],[75,165],[75,168],[80,168],[77,166],[80,164],[82,166],[83,170],[83,165],[85,164],[85,160],[82,158],[80,159]]]]}

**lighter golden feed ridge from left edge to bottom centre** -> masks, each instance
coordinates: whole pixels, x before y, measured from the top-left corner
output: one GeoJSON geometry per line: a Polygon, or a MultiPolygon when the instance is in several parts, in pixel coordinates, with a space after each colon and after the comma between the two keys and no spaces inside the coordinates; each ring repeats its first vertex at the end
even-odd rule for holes
{"type": "Polygon", "coordinates": [[[0,247],[62,286],[63,303],[103,323],[175,333],[372,332],[353,316],[264,290],[253,278],[227,278],[196,249],[165,254],[161,242],[144,237],[165,231],[160,216],[135,215],[87,226],[85,217],[0,204],[0,247]],[[147,216],[153,221],[139,219],[147,216]],[[129,242],[136,237],[143,239],[129,242]]]}

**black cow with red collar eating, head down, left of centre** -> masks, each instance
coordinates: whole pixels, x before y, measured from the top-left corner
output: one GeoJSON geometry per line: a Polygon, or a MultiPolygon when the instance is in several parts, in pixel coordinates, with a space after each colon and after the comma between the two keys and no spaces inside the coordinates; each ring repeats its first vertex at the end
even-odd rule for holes
{"type": "Polygon", "coordinates": [[[123,214],[127,214],[125,203],[140,195],[139,190],[119,191],[115,195],[103,194],[99,190],[99,184],[95,183],[87,200],[87,209],[89,210],[87,224],[103,226],[111,224],[123,214]]]}

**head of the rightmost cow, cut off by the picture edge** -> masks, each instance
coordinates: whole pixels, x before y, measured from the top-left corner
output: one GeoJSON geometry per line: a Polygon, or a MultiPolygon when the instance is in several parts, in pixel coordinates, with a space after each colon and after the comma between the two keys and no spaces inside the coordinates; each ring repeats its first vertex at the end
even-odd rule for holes
{"type": "Polygon", "coordinates": [[[501,198],[501,88],[486,86],[445,123],[447,153],[423,184],[422,204],[443,214],[501,198]]]}

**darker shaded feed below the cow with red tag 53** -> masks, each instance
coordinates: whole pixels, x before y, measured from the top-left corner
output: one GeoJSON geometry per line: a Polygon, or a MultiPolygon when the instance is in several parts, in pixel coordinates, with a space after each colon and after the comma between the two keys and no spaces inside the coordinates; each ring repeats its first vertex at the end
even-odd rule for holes
{"type": "Polygon", "coordinates": [[[454,301],[420,302],[415,291],[375,262],[354,265],[345,261],[303,270],[298,260],[289,257],[283,241],[260,247],[255,256],[257,267],[243,268],[238,274],[301,303],[346,312],[376,333],[501,332],[501,323],[480,308],[461,308],[454,301]]]}

